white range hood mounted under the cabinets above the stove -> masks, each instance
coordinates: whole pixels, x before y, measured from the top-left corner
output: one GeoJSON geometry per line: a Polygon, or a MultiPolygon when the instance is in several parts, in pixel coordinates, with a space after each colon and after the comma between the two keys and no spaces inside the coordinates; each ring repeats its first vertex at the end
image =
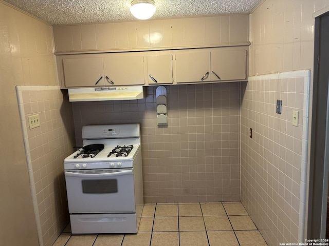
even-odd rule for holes
{"type": "Polygon", "coordinates": [[[144,98],[142,86],[68,89],[69,101],[136,100],[144,98]]]}

